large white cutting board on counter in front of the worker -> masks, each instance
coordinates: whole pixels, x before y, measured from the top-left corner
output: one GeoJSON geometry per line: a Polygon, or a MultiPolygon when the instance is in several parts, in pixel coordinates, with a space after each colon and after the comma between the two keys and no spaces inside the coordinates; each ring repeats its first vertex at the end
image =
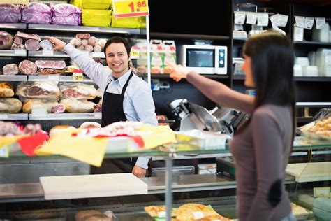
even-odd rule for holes
{"type": "Polygon", "coordinates": [[[132,173],[39,178],[45,199],[78,199],[147,194],[148,185],[132,173]]]}

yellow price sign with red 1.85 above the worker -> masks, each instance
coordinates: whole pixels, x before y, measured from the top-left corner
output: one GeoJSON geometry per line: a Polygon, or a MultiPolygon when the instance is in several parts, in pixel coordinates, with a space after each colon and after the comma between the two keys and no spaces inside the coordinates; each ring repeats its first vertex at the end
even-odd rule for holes
{"type": "Polygon", "coordinates": [[[147,0],[114,0],[112,1],[114,17],[137,17],[149,15],[147,0]]]}

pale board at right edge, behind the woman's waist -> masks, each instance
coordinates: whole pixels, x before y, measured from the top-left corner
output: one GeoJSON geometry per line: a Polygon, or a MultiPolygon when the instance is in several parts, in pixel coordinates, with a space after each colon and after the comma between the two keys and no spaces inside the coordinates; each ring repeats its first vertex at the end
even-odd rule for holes
{"type": "Polygon", "coordinates": [[[331,180],[331,162],[288,164],[286,173],[298,183],[331,180]]]}

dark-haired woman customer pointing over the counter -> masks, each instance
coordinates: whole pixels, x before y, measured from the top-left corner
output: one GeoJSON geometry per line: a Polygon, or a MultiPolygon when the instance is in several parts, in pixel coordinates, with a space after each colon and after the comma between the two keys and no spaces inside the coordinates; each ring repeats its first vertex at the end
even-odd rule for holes
{"type": "Polygon", "coordinates": [[[187,78],[214,102],[251,115],[233,137],[239,220],[295,220],[285,190],[286,165],[295,135],[294,52],[277,31],[251,36],[244,44],[244,85],[256,96],[231,90],[181,65],[170,77],[187,78]]]}

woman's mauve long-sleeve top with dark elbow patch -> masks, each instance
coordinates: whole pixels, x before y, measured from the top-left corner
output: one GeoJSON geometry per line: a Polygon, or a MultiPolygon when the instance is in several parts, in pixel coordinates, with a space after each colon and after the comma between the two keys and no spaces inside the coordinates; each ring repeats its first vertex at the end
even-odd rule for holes
{"type": "Polygon", "coordinates": [[[253,110],[254,97],[191,71],[189,83],[217,104],[251,114],[233,137],[239,220],[281,220],[291,212],[285,190],[286,165],[292,145],[290,106],[264,104],[253,110]]]}

